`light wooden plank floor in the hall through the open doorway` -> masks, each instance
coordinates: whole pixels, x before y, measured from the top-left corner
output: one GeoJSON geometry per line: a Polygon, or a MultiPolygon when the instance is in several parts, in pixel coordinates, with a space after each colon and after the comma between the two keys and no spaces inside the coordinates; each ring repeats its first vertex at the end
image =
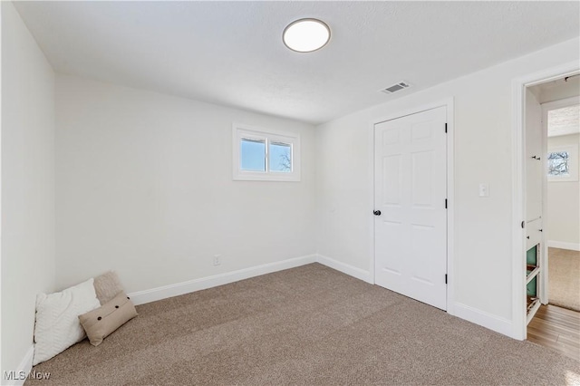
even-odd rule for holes
{"type": "Polygon", "coordinates": [[[527,340],[580,361],[580,313],[542,305],[527,324],[527,340]]]}

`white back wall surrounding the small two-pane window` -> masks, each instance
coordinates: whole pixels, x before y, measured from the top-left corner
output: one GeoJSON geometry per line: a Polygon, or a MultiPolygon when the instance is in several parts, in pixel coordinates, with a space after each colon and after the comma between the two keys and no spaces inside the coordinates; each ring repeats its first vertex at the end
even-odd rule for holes
{"type": "Polygon", "coordinates": [[[56,122],[59,288],[114,269],[134,292],[315,253],[314,127],[61,75],[56,122]],[[233,181],[234,121],[300,133],[302,181],[233,181]]]}

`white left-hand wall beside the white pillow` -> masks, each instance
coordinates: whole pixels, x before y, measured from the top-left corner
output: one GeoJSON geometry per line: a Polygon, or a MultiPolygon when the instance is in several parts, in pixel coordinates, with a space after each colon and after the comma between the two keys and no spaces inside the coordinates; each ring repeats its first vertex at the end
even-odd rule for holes
{"type": "Polygon", "coordinates": [[[54,72],[14,5],[1,6],[4,374],[32,347],[36,294],[53,291],[54,72]]]}

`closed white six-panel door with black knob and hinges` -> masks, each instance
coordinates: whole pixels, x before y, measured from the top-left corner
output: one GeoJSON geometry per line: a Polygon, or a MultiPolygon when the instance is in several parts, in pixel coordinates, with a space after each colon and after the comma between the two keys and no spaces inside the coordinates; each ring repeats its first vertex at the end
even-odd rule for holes
{"type": "Polygon", "coordinates": [[[447,109],[374,126],[375,283],[447,309],[447,109]]]}

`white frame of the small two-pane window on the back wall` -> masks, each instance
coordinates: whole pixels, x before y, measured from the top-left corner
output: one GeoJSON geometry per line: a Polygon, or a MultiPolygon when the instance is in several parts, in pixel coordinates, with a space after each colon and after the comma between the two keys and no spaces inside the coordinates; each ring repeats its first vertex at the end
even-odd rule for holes
{"type": "Polygon", "coordinates": [[[300,134],[269,130],[241,123],[232,124],[232,164],[235,181],[300,181],[300,134]],[[241,140],[244,138],[266,141],[266,171],[251,171],[241,169],[241,140]],[[292,170],[289,172],[270,171],[269,144],[283,142],[291,145],[292,170]]]}

